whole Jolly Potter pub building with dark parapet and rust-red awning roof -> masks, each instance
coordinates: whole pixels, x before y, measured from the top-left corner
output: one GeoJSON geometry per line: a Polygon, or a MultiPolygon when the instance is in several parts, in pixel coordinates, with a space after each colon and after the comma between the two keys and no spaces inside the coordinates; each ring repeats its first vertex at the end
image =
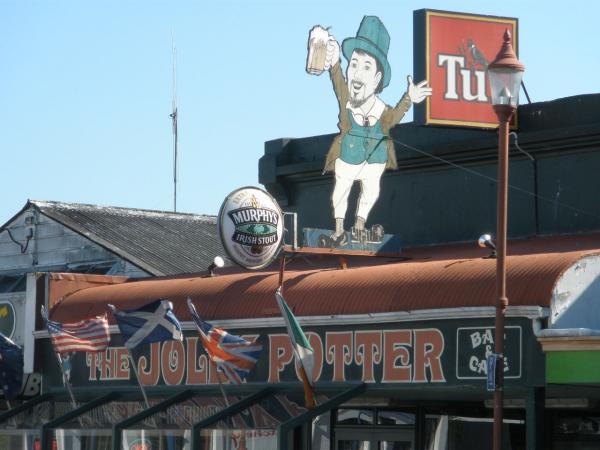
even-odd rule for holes
{"type": "MultiPolygon", "coordinates": [[[[519,108],[509,181],[505,449],[600,446],[598,100],[519,108]]],[[[400,168],[383,176],[372,221],[400,236],[397,255],[340,260],[336,249],[307,255],[287,246],[284,272],[273,265],[143,280],[30,275],[35,308],[47,306],[53,320],[166,298],[185,337],[134,352],[147,408],[113,325],[109,349],[72,359],[73,412],[36,317],[43,395],[0,416],[5,448],[491,448],[486,356],[496,273],[476,239],[495,228],[497,136],[415,124],[392,136],[400,168]],[[281,281],[315,351],[314,409],[305,407],[277,309],[281,281]],[[223,382],[201,348],[188,298],[205,320],[262,345],[245,383],[223,382]]],[[[332,226],[332,177],[321,175],[331,139],[265,146],[259,180],[297,214],[298,229],[332,226]]]]}

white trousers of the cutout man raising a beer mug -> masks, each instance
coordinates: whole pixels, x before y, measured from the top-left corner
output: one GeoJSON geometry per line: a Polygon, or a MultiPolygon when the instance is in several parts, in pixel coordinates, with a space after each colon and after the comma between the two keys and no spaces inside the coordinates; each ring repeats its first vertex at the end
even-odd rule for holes
{"type": "Polygon", "coordinates": [[[360,195],[356,215],[367,221],[369,212],[379,198],[379,181],[385,170],[385,163],[372,163],[366,161],[361,164],[348,164],[340,158],[335,160],[335,187],[331,201],[333,203],[333,216],[336,219],[346,217],[348,209],[348,196],[352,184],[360,181],[360,195]]]}

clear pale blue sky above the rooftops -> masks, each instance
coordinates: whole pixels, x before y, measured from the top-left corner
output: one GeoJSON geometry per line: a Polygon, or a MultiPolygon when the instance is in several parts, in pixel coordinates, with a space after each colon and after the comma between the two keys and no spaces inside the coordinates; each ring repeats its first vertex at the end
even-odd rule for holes
{"type": "Polygon", "coordinates": [[[422,8],[517,17],[534,102],[600,91],[598,2],[0,0],[0,224],[29,198],[173,209],[171,33],[177,209],[216,214],[258,185],[265,141],[336,131],[329,80],[304,71],[309,29],[341,40],[379,16],[394,103],[422,8]]]}

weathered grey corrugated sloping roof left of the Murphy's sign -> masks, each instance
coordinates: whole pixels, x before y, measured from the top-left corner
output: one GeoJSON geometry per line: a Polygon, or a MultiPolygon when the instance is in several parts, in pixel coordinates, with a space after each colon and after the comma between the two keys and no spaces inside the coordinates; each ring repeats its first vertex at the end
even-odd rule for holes
{"type": "Polygon", "coordinates": [[[216,216],[30,200],[42,214],[155,276],[205,271],[224,256],[216,216]]]}

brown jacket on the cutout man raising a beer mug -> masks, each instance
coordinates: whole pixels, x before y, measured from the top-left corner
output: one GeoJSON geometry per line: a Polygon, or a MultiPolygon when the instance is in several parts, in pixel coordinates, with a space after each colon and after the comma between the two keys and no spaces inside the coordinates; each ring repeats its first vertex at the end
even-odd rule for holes
{"type": "MultiPolygon", "coordinates": [[[[338,128],[340,129],[340,134],[335,137],[331,147],[329,148],[327,158],[325,159],[325,168],[323,169],[323,173],[333,172],[335,160],[339,158],[342,151],[342,138],[346,135],[346,133],[348,133],[350,128],[352,128],[352,124],[348,118],[348,110],[346,109],[346,104],[348,103],[348,97],[350,94],[348,92],[346,80],[344,80],[344,76],[342,75],[342,69],[339,62],[331,68],[329,71],[329,76],[331,77],[333,90],[335,91],[335,96],[338,99],[338,105],[340,108],[340,113],[338,116],[338,128]]],[[[386,136],[389,136],[390,128],[402,120],[402,117],[404,117],[404,114],[406,111],[408,111],[411,104],[412,102],[410,101],[410,97],[406,93],[402,96],[394,108],[385,105],[385,109],[383,110],[383,114],[381,114],[379,121],[381,122],[381,129],[386,136]]],[[[387,151],[388,161],[386,168],[397,169],[398,162],[396,161],[394,142],[391,139],[387,140],[387,151]]]]}

